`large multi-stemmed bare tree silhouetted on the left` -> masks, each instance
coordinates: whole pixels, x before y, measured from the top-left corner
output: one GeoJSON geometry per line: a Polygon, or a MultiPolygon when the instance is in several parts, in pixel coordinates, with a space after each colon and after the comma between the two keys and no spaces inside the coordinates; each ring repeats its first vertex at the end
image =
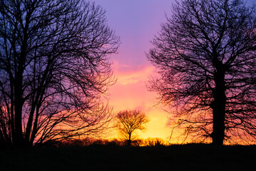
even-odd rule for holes
{"type": "Polygon", "coordinates": [[[0,0],[0,143],[31,146],[105,130],[119,37],[83,0],[0,0]]]}

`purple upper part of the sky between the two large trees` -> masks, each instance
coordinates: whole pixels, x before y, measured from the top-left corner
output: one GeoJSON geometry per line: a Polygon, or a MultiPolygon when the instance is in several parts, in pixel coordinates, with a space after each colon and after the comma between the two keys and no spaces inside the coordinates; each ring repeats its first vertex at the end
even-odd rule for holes
{"type": "Polygon", "coordinates": [[[107,21],[121,38],[119,54],[113,60],[134,67],[147,63],[145,52],[149,41],[170,14],[174,0],[95,0],[107,11],[107,21]]]}

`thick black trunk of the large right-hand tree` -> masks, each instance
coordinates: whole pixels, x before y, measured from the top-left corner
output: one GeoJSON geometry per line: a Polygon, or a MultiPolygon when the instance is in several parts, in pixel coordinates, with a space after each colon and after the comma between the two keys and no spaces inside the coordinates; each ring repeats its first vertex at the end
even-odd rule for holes
{"type": "Polygon", "coordinates": [[[213,145],[223,145],[225,138],[225,71],[221,63],[220,68],[217,69],[215,76],[215,91],[213,92],[213,145]]]}

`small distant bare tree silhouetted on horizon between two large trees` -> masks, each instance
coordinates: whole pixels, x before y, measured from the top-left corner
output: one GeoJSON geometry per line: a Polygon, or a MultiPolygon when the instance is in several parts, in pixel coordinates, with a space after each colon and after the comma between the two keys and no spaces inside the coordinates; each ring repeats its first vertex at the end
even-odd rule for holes
{"type": "Polygon", "coordinates": [[[129,146],[132,145],[132,133],[135,130],[144,130],[149,118],[139,110],[124,110],[117,114],[117,129],[127,140],[129,146]]]}

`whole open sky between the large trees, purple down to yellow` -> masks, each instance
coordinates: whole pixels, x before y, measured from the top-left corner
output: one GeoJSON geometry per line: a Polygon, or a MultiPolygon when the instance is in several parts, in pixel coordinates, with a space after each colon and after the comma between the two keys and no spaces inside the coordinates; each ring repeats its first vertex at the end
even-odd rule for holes
{"type": "MultiPolygon", "coordinates": [[[[256,0],[247,0],[252,4],[256,0]]],[[[110,87],[109,104],[114,112],[142,110],[151,120],[140,138],[168,140],[171,128],[167,125],[168,113],[156,105],[156,93],[146,90],[149,76],[156,70],[146,59],[152,47],[150,41],[161,28],[161,23],[171,16],[175,0],[95,0],[106,10],[107,24],[120,36],[118,53],[110,56],[117,83],[110,87]]]]}

